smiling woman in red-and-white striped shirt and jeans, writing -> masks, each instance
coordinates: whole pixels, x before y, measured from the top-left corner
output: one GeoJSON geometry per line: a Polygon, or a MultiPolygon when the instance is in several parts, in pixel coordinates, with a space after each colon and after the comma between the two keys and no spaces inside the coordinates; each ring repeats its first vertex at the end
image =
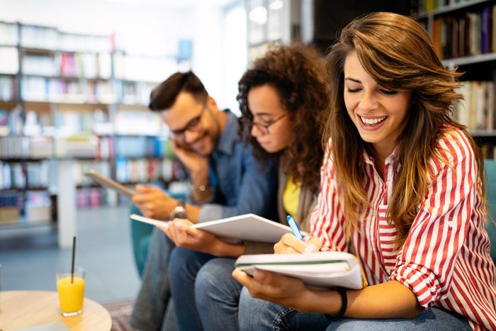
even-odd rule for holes
{"type": "Polygon", "coordinates": [[[351,22],[327,59],[313,239],[285,235],[274,249],[353,252],[371,286],[316,290],[235,270],[241,329],[496,330],[483,159],[450,116],[459,74],[419,23],[394,13],[351,22]]]}

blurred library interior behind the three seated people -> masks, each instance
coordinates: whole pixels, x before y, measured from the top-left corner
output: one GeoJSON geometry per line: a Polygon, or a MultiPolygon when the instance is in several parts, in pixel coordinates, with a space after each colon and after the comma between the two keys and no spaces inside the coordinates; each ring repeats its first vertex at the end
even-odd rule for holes
{"type": "Polygon", "coordinates": [[[413,16],[446,67],[466,72],[454,116],[495,156],[495,1],[0,0],[1,291],[55,290],[55,269],[88,270],[86,296],[132,300],[140,285],[129,201],[96,169],[176,196],[186,174],[150,91],[193,70],[220,108],[239,113],[237,81],[271,43],[325,55],[356,16],[413,16]]]}

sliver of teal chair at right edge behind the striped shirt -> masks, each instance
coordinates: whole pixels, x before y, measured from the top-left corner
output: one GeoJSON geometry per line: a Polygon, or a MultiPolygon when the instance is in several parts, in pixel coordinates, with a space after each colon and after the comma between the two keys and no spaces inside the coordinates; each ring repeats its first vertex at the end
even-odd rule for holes
{"type": "MultiPolygon", "coordinates": [[[[484,160],[485,175],[486,175],[486,195],[487,195],[487,211],[496,221],[496,160],[484,160]]],[[[491,257],[496,263],[496,225],[487,218],[487,234],[491,241],[491,257]]]]}

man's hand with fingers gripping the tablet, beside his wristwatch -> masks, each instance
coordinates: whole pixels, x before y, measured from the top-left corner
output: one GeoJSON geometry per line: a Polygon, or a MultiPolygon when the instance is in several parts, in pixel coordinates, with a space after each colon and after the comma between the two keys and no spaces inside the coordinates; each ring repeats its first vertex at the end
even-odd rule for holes
{"type": "Polygon", "coordinates": [[[145,217],[167,220],[177,206],[177,201],[158,187],[136,185],[136,191],[133,203],[145,217]]]}

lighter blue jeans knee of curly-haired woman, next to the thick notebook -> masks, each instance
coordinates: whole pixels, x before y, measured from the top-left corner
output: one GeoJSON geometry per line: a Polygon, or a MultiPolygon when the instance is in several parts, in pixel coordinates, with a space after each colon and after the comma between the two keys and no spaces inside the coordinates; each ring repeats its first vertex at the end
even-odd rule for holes
{"type": "Polygon", "coordinates": [[[232,278],[235,259],[211,259],[196,276],[196,307],[205,331],[239,330],[237,310],[242,285],[232,278]]]}

